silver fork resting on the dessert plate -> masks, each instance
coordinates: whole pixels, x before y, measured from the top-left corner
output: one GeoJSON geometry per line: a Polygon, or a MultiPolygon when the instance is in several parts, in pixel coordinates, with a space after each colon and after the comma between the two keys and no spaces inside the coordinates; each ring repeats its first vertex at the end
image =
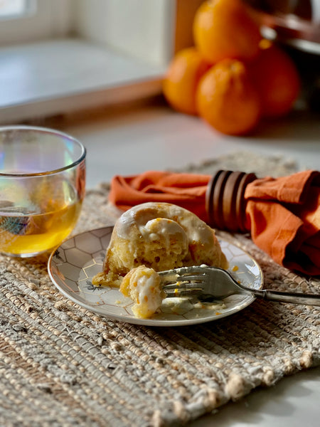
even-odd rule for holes
{"type": "Polygon", "coordinates": [[[221,300],[230,295],[252,295],[265,300],[292,304],[320,305],[319,294],[251,289],[238,283],[230,273],[215,267],[181,267],[159,272],[166,297],[198,297],[221,300]]]}

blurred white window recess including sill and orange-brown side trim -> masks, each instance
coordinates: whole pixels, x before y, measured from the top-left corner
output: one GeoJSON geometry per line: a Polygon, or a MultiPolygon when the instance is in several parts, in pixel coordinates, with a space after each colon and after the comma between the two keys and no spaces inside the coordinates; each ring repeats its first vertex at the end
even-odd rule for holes
{"type": "MultiPolygon", "coordinates": [[[[77,110],[105,107],[159,95],[161,81],[169,60],[176,51],[192,44],[190,23],[196,8],[203,0],[187,2],[186,0],[130,0],[131,13],[123,16],[120,9],[123,7],[124,0],[35,1],[41,5],[41,9],[38,9],[39,16],[43,8],[47,9],[46,14],[43,15],[47,28],[42,28],[43,25],[41,27],[46,31],[32,33],[28,38],[25,36],[24,41],[28,43],[20,44],[15,40],[15,43],[11,41],[9,46],[1,46],[0,31],[0,64],[4,65],[0,69],[5,88],[4,93],[0,95],[0,125],[41,120],[42,117],[63,115],[77,110]],[[141,8],[146,5],[146,2],[149,3],[149,7],[146,8],[149,16],[144,16],[149,26],[147,33],[149,31],[152,35],[154,28],[157,28],[154,33],[158,34],[158,36],[153,34],[151,41],[149,39],[144,41],[142,35],[138,33],[139,22],[141,23],[142,19],[141,8]],[[43,6],[44,4],[46,7],[43,6]],[[89,19],[89,23],[87,21],[83,26],[81,19],[85,16],[85,11],[95,10],[97,14],[101,11],[100,6],[105,4],[110,4],[114,8],[111,7],[107,11],[111,13],[109,19],[117,16],[118,23],[123,28],[126,28],[126,19],[132,21],[129,33],[132,40],[129,43],[124,43],[121,38],[118,40],[117,31],[103,33],[104,23],[101,20],[97,23],[95,19],[91,21],[89,19]],[[157,4],[156,11],[161,13],[155,13],[150,4],[157,4]],[[159,8],[159,4],[162,5],[162,9],[159,8]],[[86,9],[85,6],[88,5],[90,9],[86,9]],[[133,7],[134,5],[136,7],[133,7]],[[75,7],[80,14],[74,13],[75,7]],[[134,27],[134,14],[138,14],[140,19],[135,24],[136,27],[134,27]],[[154,19],[157,16],[159,16],[159,22],[155,23],[154,19]],[[135,33],[136,29],[137,33],[135,33]],[[36,41],[39,34],[41,41],[36,41]],[[77,53],[76,58],[72,47],[69,51],[65,51],[65,46],[72,46],[73,41],[82,43],[83,46],[83,53],[77,53]],[[57,58],[57,49],[59,50],[60,46],[63,46],[64,52],[62,59],[57,58]],[[85,55],[90,46],[92,51],[88,57],[91,61],[90,59],[84,61],[82,58],[87,58],[85,55]],[[100,50],[98,58],[97,49],[100,50]],[[111,58],[111,63],[107,58],[111,58]],[[13,68],[15,61],[20,64],[18,68],[13,68]],[[127,65],[119,68],[119,64],[127,65]],[[109,78],[110,73],[105,72],[110,68],[113,68],[111,78],[109,78]],[[126,75],[122,73],[124,69],[126,75]],[[65,74],[63,74],[64,70],[65,74]],[[119,79],[119,75],[123,75],[122,80],[119,79]],[[99,80],[97,84],[97,80],[92,80],[96,76],[99,80]],[[83,87],[80,87],[76,83],[80,81],[82,84],[82,80],[83,87]]],[[[32,22],[32,18],[29,19],[28,25],[32,22]]],[[[26,21],[28,21],[27,18],[26,21]]]]}

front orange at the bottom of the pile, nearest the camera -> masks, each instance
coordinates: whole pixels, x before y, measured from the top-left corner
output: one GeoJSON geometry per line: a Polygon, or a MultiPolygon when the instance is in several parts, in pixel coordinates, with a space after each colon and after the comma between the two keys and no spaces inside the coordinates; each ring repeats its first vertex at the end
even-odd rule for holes
{"type": "Polygon", "coordinates": [[[228,135],[243,135],[260,120],[260,99],[239,60],[220,61],[203,75],[197,90],[198,112],[209,125],[228,135]]]}

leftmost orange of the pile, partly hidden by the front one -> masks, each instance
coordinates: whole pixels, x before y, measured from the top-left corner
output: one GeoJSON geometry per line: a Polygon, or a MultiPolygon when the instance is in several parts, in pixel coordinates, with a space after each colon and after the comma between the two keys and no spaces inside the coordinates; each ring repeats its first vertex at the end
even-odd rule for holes
{"type": "Polygon", "coordinates": [[[166,100],[175,110],[196,115],[196,88],[199,80],[210,68],[196,48],[178,52],[171,61],[163,81],[166,100]]]}

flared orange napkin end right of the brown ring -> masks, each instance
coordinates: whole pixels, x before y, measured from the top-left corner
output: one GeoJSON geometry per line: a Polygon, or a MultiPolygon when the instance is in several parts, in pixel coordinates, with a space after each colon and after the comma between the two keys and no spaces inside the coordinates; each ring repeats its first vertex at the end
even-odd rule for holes
{"type": "Polygon", "coordinates": [[[291,270],[320,275],[320,172],[257,179],[245,199],[255,244],[291,270]]]}

